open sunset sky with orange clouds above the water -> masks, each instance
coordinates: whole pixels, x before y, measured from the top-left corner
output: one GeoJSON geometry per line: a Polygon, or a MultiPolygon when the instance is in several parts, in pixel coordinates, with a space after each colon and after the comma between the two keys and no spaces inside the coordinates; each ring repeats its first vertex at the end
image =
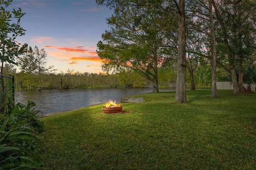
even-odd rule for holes
{"type": "Polygon", "coordinates": [[[56,73],[103,73],[96,49],[112,10],[94,0],[13,0],[9,7],[26,12],[20,20],[25,35],[16,40],[44,49],[56,73]]]}

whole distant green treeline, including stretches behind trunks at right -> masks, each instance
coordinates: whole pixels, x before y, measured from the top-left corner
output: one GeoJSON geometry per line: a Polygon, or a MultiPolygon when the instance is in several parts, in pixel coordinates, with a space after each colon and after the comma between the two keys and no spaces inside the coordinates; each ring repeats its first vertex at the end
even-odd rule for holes
{"type": "MultiPolygon", "coordinates": [[[[188,70],[187,70],[188,72],[188,70]]],[[[5,75],[15,77],[15,90],[27,89],[73,89],[73,88],[142,88],[152,87],[149,81],[136,71],[122,71],[115,74],[80,73],[68,69],[60,73],[17,72],[15,67],[6,65],[5,75]]],[[[159,87],[176,87],[177,71],[174,67],[162,67],[158,70],[159,87]]],[[[223,69],[217,71],[217,81],[231,81],[230,75],[223,69]]],[[[199,65],[194,71],[196,88],[211,88],[209,65],[199,65]]],[[[186,86],[190,87],[190,75],[186,74],[186,86]]]]}

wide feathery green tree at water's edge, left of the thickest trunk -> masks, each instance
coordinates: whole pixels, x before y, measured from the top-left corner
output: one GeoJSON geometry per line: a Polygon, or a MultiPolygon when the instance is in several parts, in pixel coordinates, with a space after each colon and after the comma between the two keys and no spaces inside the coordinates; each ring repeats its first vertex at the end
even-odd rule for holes
{"type": "Polygon", "coordinates": [[[106,0],[105,3],[115,8],[115,15],[108,19],[111,30],[102,34],[103,42],[97,44],[97,53],[104,62],[102,69],[107,73],[136,71],[152,81],[159,92],[158,69],[166,57],[163,47],[163,30],[168,27],[166,16],[154,6],[136,2],[106,0]]]}

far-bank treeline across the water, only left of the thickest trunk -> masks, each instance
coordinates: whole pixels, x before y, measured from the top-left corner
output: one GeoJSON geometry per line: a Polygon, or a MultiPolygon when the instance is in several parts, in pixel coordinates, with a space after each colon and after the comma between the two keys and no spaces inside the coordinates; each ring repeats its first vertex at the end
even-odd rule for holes
{"type": "MultiPolygon", "coordinates": [[[[174,87],[175,74],[160,73],[162,87],[174,87]]],[[[67,73],[38,74],[15,73],[15,90],[26,89],[71,89],[71,88],[141,88],[152,87],[152,82],[134,71],[116,74],[67,73]],[[40,88],[38,88],[40,86],[40,88]]]]}

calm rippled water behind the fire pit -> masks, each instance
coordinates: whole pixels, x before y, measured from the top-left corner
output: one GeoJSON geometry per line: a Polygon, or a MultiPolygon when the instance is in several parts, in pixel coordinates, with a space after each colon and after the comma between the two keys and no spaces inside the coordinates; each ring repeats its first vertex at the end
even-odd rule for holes
{"type": "MultiPolygon", "coordinates": [[[[161,91],[174,91],[174,88],[163,88],[161,91]]],[[[108,103],[109,100],[121,102],[123,95],[151,93],[153,88],[142,89],[68,89],[68,90],[30,90],[15,91],[15,102],[27,104],[27,101],[36,103],[35,110],[42,114],[57,113],[78,109],[99,103],[108,103]]]]}

